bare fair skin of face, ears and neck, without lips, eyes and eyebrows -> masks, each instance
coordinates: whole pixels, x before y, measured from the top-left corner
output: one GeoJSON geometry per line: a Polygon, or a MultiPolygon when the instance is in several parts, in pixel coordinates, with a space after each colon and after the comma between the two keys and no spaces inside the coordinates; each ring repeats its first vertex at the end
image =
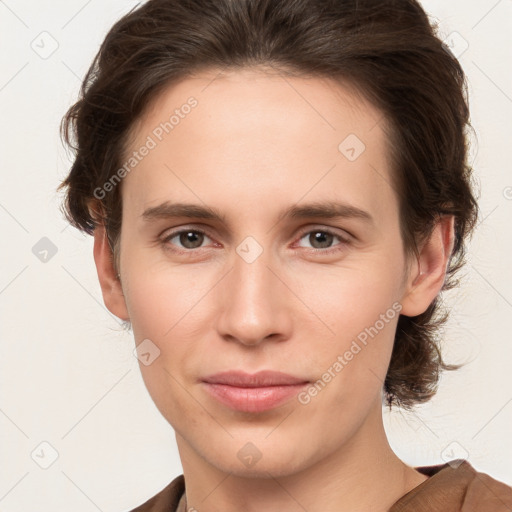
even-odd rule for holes
{"type": "Polygon", "coordinates": [[[443,285],[453,218],[436,225],[418,260],[406,258],[382,115],[348,85],[318,77],[204,71],[155,98],[127,153],[190,96],[197,107],[122,182],[120,279],[102,226],[94,246],[106,306],[131,321],[137,344],[160,350],[140,368],[175,429],[187,506],[384,512],[426,479],[393,453],[382,423],[398,315],[305,405],[233,411],[200,379],[273,369],[317,381],[393,303],[408,316],[426,310],[443,285]],[[338,150],[349,134],[366,146],[353,162],[338,150]],[[214,207],[225,222],[145,221],[164,201],[214,207]],[[279,221],[313,201],[350,203],[373,223],[279,221]],[[207,234],[195,246],[163,240],[177,229],[207,234]],[[325,229],[335,236],[322,246],[314,234],[325,229]],[[252,263],[236,252],[247,236],[263,248],[252,263]],[[248,442],[261,455],[251,467],[237,457],[248,442]]]}

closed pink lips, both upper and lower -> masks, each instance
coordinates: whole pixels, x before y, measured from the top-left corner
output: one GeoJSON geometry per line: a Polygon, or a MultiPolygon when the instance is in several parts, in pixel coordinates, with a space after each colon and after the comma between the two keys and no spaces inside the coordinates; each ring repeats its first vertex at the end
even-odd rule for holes
{"type": "Polygon", "coordinates": [[[263,412],[284,404],[309,384],[286,373],[264,370],[255,374],[229,371],[202,379],[206,392],[227,407],[242,412],[263,412]]]}

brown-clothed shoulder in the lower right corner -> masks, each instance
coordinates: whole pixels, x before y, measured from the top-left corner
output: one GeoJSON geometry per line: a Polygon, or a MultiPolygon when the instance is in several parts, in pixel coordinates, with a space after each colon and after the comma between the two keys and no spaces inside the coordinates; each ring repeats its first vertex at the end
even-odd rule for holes
{"type": "Polygon", "coordinates": [[[453,460],[416,470],[429,478],[405,494],[389,512],[512,510],[512,487],[477,471],[468,461],[453,460]]]}

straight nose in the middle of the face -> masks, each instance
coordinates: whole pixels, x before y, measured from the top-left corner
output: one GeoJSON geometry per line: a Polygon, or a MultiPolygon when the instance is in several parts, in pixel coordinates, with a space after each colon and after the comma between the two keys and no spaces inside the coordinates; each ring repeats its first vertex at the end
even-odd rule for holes
{"type": "Polygon", "coordinates": [[[292,294],[273,267],[265,251],[252,262],[234,256],[231,271],[217,287],[217,329],[226,341],[253,346],[290,338],[292,294]]]}

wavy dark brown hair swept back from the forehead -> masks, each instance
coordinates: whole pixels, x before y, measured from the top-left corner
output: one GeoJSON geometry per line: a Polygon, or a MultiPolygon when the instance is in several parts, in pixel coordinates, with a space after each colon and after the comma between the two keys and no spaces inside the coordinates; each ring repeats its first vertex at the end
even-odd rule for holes
{"type": "MultiPolygon", "coordinates": [[[[455,216],[443,290],[458,284],[478,206],[467,162],[467,84],[457,59],[415,0],[149,0],[107,34],[62,122],[74,163],[59,188],[75,227],[105,223],[118,261],[121,187],[98,199],[121,165],[130,128],[169,86],[206,68],[272,66],[353,84],[384,114],[400,202],[404,250],[417,254],[441,215],[455,216]],[[96,213],[94,213],[96,212],[96,213]],[[103,212],[102,215],[99,212],[103,212]]],[[[436,392],[438,296],[421,315],[401,315],[384,390],[410,408],[436,392]]]]}

